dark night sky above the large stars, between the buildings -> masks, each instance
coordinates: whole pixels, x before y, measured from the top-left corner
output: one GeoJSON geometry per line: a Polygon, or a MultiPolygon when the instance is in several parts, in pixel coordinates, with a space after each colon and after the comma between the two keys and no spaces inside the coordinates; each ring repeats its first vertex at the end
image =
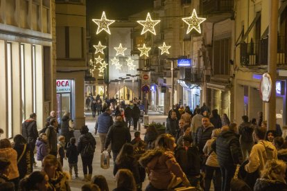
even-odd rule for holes
{"type": "Polygon", "coordinates": [[[130,15],[152,8],[153,0],[87,0],[87,19],[101,18],[105,11],[107,19],[125,21],[130,15]]]}

